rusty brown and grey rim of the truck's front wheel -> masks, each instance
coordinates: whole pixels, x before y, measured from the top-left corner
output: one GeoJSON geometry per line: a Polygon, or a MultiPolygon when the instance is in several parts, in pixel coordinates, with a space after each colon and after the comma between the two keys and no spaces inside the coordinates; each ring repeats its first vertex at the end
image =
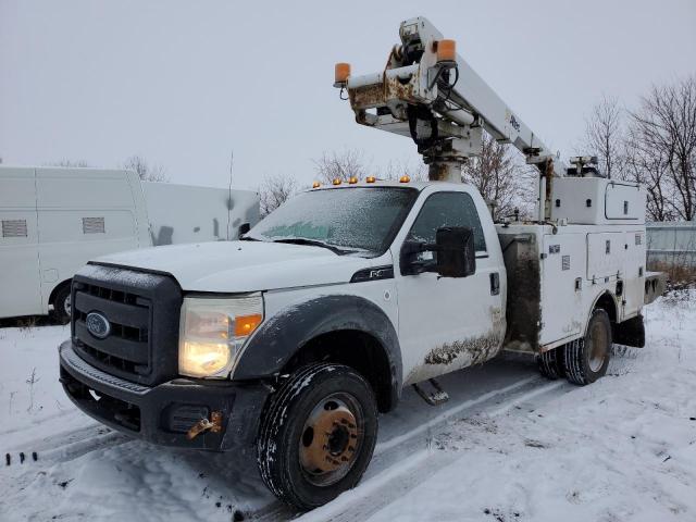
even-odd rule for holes
{"type": "Polygon", "coordinates": [[[299,442],[306,478],[316,486],[340,481],[355,464],[363,438],[363,415],[349,394],[334,394],[312,409],[299,442]]]}

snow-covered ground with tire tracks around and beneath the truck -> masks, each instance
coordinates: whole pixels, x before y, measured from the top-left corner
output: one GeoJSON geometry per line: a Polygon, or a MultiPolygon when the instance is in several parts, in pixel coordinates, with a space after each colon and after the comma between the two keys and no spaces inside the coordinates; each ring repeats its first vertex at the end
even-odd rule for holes
{"type": "Polygon", "coordinates": [[[443,378],[440,407],[408,390],[361,485],[303,515],[233,456],[133,440],[76,411],[57,382],[67,327],[0,328],[0,520],[694,521],[696,293],[645,314],[646,348],[614,347],[588,387],[506,356],[443,378]]]}

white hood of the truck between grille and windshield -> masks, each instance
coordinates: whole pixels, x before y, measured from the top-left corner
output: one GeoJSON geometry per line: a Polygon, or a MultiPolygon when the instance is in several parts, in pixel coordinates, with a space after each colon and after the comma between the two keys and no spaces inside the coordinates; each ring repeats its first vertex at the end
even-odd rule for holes
{"type": "Polygon", "coordinates": [[[374,261],[307,245],[216,241],[132,250],[96,263],[164,272],[189,291],[248,293],[347,283],[374,261]]]}

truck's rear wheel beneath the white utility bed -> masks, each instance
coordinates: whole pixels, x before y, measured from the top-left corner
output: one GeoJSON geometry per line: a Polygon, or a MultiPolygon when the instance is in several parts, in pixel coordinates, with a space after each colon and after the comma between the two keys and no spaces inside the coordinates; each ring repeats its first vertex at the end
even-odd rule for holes
{"type": "Polygon", "coordinates": [[[606,311],[592,312],[584,338],[564,347],[566,376],[571,383],[586,385],[607,373],[611,356],[611,322],[606,311]]]}

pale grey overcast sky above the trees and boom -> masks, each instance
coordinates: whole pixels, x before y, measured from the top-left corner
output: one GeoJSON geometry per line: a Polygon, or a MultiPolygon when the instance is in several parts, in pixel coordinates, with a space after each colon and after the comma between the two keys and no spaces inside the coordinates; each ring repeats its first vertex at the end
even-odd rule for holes
{"type": "Polygon", "coordinates": [[[141,154],[172,182],[310,183],[324,150],[418,161],[407,138],[357,125],[337,61],[381,71],[401,20],[424,15],[562,157],[602,94],[634,105],[696,73],[696,1],[234,2],[0,0],[4,164],[141,154]]]}

